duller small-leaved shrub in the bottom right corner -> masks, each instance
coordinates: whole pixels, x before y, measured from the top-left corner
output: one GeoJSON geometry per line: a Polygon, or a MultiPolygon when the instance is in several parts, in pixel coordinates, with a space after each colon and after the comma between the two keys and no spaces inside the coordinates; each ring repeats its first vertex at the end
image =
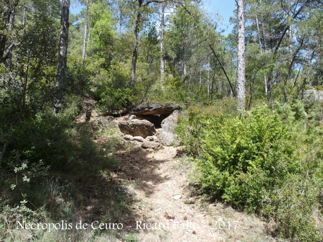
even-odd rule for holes
{"type": "Polygon", "coordinates": [[[322,180],[290,174],[283,186],[273,195],[278,232],[293,241],[321,241],[315,222],[317,197],[322,180]],[[320,183],[320,184],[319,184],[320,183]]]}

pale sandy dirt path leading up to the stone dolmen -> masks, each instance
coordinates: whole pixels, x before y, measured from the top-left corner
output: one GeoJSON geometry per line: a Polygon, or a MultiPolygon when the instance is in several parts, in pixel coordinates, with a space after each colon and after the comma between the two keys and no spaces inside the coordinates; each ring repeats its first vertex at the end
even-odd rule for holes
{"type": "Polygon", "coordinates": [[[140,241],[220,241],[205,213],[194,209],[184,173],[177,172],[177,149],[164,147],[155,153],[118,154],[120,172],[139,200],[141,219],[132,227],[140,241]],[[176,197],[177,196],[177,197],[176,197]]]}

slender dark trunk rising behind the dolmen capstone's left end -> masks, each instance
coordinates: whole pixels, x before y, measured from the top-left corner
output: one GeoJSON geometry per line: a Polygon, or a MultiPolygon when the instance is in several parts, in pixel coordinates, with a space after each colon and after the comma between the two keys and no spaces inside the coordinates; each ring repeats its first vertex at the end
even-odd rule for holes
{"type": "Polygon", "coordinates": [[[139,35],[139,25],[141,22],[141,7],[142,7],[142,1],[138,1],[138,12],[136,16],[135,21],[135,30],[134,30],[134,36],[135,36],[135,44],[133,46],[133,52],[132,52],[132,61],[131,61],[131,74],[130,74],[130,86],[135,86],[135,79],[136,79],[136,65],[137,65],[137,57],[138,57],[138,35],[139,35]]]}

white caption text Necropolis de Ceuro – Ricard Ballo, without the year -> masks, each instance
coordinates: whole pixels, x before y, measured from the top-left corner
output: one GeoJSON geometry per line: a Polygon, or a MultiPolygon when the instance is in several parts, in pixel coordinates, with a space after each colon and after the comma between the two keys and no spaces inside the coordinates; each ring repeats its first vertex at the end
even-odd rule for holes
{"type": "MultiPolygon", "coordinates": [[[[143,221],[136,221],[135,226],[126,226],[127,228],[134,228],[138,230],[142,229],[190,229],[192,228],[191,221],[186,221],[183,224],[179,223],[150,223],[143,221]]],[[[16,222],[16,229],[31,229],[31,230],[71,230],[71,229],[93,229],[93,230],[121,230],[124,228],[123,223],[101,223],[99,221],[93,221],[91,223],[84,223],[80,220],[78,223],[68,223],[67,220],[62,220],[59,223],[26,223],[16,222]]]]}

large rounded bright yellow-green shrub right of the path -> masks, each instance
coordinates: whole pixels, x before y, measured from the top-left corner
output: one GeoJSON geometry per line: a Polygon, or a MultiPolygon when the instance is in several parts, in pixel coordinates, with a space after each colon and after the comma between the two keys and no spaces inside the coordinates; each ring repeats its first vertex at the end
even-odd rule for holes
{"type": "Polygon", "coordinates": [[[219,114],[204,129],[198,167],[202,187],[239,209],[260,211],[268,194],[297,170],[289,131],[280,116],[262,106],[244,117],[219,114]],[[214,180],[211,174],[222,174],[214,180]],[[207,174],[205,176],[204,174],[207,174]]]}

